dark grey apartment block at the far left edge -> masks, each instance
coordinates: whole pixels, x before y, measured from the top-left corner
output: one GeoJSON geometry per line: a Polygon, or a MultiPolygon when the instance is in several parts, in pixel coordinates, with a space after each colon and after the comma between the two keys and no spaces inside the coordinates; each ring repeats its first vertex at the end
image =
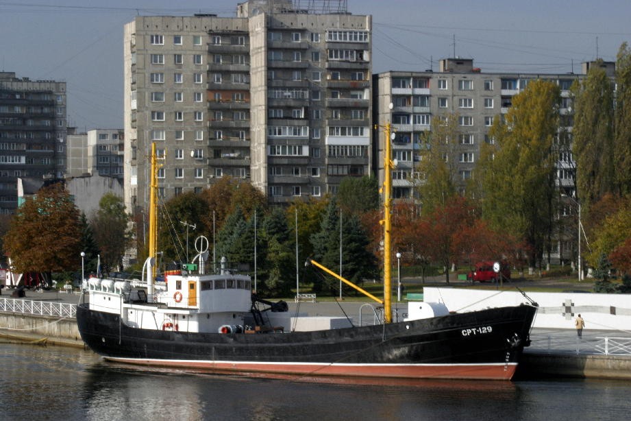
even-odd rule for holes
{"type": "Polygon", "coordinates": [[[0,72],[0,213],[18,205],[16,180],[66,168],[66,83],[0,72]]]}

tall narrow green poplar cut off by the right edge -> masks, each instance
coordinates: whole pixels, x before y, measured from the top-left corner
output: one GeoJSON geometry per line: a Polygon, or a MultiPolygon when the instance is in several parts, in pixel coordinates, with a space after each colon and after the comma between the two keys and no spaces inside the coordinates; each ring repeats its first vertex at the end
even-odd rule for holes
{"type": "Polygon", "coordinates": [[[614,167],[618,194],[631,193],[631,49],[623,43],[616,60],[614,167]]]}

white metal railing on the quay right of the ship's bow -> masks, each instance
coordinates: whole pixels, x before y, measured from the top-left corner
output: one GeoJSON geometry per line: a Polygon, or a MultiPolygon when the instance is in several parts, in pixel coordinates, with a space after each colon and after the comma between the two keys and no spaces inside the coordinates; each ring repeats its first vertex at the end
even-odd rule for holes
{"type": "Polygon", "coordinates": [[[531,335],[530,350],[549,354],[571,352],[573,354],[631,356],[631,337],[586,337],[583,331],[583,337],[579,339],[574,329],[568,330],[567,335],[552,333],[531,335]]]}

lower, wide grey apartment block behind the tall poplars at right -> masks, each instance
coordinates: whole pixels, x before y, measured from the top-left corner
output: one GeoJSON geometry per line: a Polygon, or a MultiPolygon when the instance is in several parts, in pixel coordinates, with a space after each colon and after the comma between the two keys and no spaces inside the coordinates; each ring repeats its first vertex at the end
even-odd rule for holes
{"type": "MultiPolygon", "coordinates": [[[[571,139],[573,125],[572,99],[569,91],[576,80],[586,77],[591,66],[604,67],[609,77],[615,73],[613,62],[585,62],[581,73],[484,73],[473,67],[473,60],[449,58],[441,60],[437,72],[389,71],[373,77],[375,123],[391,123],[395,138],[393,158],[397,167],[393,171],[393,197],[417,198],[418,164],[423,138],[432,130],[434,117],[458,115],[458,133],[454,145],[458,187],[464,190],[467,180],[473,177],[475,163],[480,156],[480,145],[493,141],[488,132],[493,121],[506,115],[512,97],[523,91],[532,80],[545,79],[558,84],[561,93],[560,132],[571,139]],[[389,106],[392,104],[392,107],[389,106]]],[[[560,133],[561,134],[561,133],[560,133]]],[[[383,180],[383,134],[373,141],[375,168],[383,180]]],[[[576,163],[570,150],[560,151],[557,163],[559,193],[574,195],[576,163]]],[[[572,202],[574,202],[572,200],[572,202]]],[[[562,212],[562,215],[569,215],[562,212]]],[[[575,237],[556,239],[552,252],[554,261],[567,261],[571,249],[576,250],[575,237]]]]}

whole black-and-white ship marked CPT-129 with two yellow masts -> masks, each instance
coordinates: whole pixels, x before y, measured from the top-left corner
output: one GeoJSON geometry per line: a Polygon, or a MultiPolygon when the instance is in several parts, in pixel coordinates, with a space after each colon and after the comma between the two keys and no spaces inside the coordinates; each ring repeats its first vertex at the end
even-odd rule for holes
{"type": "MultiPolygon", "coordinates": [[[[251,278],[221,265],[214,274],[186,265],[156,282],[158,157],[151,154],[149,257],[136,285],[92,278],[77,306],[87,346],[108,361],[245,376],[295,378],[510,380],[537,304],[454,312],[438,302],[410,300],[393,322],[391,304],[390,125],[385,126],[384,298],[309,263],[380,304],[378,322],[356,326],[349,318],[290,313],[282,300],[259,298],[251,278]],[[388,182],[390,184],[388,184],[388,182]],[[197,273],[196,273],[197,272],[197,273]]],[[[377,314],[377,313],[375,313],[377,314]]]]}

